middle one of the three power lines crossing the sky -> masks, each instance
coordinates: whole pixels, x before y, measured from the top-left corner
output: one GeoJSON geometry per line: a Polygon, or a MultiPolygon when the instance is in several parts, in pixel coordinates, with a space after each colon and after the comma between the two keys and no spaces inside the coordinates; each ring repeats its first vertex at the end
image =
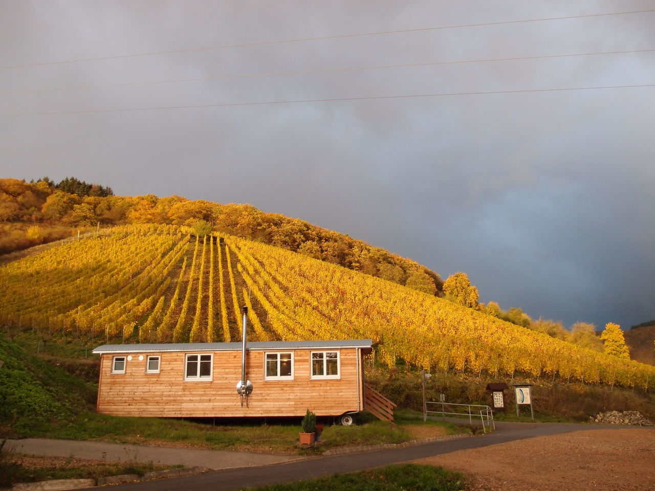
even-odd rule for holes
{"type": "Polygon", "coordinates": [[[363,67],[347,67],[347,68],[325,68],[325,69],[315,69],[315,70],[297,70],[297,71],[278,71],[278,72],[269,72],[269,73],[249,73],[243,75],[222,75],[220,77],[202,77],[195,79],[174,79],[174,80],[162,80],[162,81],[147,81],[147,82],[124,82],[124,83],[115,83],[115,84],[98,84],[98,85],[83,85],[83,86],[73,86],[73,87],[54,87],[54,88],[35,88],[28,90],[7,90],[0,92],[0,94],[28,94],[33,92],[55,92],[60,90],[84,90],[84,89],[94,89],[94,88],[111,88],[111,87],[127,87],[127,86],[138,86],[138,85],[151,85],[151,84],[172,84],[179,82],[206,82],[206,81],[215,81],[215,80],[225,80],[225,79],[242,79],[242,78],[254,78],[254,77],[273,77],[279,75],[303,75],[309,73],[329,73],[329,72],[338,72],[338,71],[357,71],[357,70],[373,70],[373,69],[388,69],[388,68],[408,68],[408,67],[424,67],[424,66],[435,66],[435,65],[455,65],[455,64],[468,64],[468,63],[486,63],[486,62],[514,62],[520,60],[545,60],[548,58],[570,58],[574,56],[597,56],[597,55],[607,55],[607,54],[629,54],[629,53],[648,53],[653,52],[655,49],[646,49],[646,50],[622,50],[622,51],[602,51],[602,52],[593,52],[593,53],[573,53],[573,54],[548,54],[542,56],[515,56],[512,58],[485,58],[480,60],[455,60],[450,62],[425,62],[425,63],[411,63],[411,64],[396,64],[396,65],[373,65],[373,66],[363,66],[363,67]]]}

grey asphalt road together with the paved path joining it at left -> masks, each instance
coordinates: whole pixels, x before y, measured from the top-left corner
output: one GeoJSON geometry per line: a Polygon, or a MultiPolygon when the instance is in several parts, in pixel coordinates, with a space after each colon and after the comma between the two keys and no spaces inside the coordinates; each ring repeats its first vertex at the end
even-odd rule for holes
{"type": "MultiPolygon", "coordinates": [[[[598,426],[590,424],[496,422],[496,431],[479,437],[426,443],[405,448],[360,452],[357,454],[300,458],[300,460],[295,456],[248,454],[246,452],[225,452],[215,450],[190,450],[185,448],[158,448],[136,445],[115,445],[100,442],[69,442],[72,446],[77,445],[77,450],[73,449],[72,452],[64,454],[64,456],[68,456],[72,453],[80,458],[97,458],[97,456],[83,456],[90,455],[84,453],[86,450],[83,449],[86,448],[86,444],[98,445],[98,448],[92,450],[91,454],[97,452],[99,448],[109,448],[109,446],[115,445],[115,447],[120,448],[114,448],[114,450],[119,453],[122,452],[122,456],[130,456],[130,452],[136,451],[136,456],[138,456],[139,460],[145,458],[147,452],[151,449],[162,451],[162,455],[169,452],[171,459],[170,462],[164,462],[162,457],[147,460],[153,460],[153,462],[159,461],[162,464],[203,465],[210,469],[221,468],[222,470],[187,477],[120,484],[112,486],[112,489],[115,491],[178,491],[180,489],[184,489],[185,491],[227,491],[280,482],[304,481],[306,479],[313,479],[315,477],[333,475],[336,473],[360,471],[372,467],[398,464],[407,460],[446,454],[457,450],[479,448],[545,435],[558,435],[561,433],[569,433],[571,431],[598,429],[599,427],[626,428],[626,426],[598,426]],[[130,447],[136,448],[132,449],[130,447]],[[202,458],[206,458],[207,460],[201,460],[202,458]],[[180,459],[184,459],[184,461],[181,462],[180,459]],[[205,463],[203,464],[202,462],[205,463]]],[[[637,431],[637,429],[635,429],[635,431],[637,431]]],[[[17,441],[16,443],[35,441],[35,446],[38,447],[38,450],[30,450],[28,453],[44,454],[43,452],[48,445],[54,448],[60,448],[60,452],[67,450],[67,448],[66,450],[63,450],[64,446],[62,446],[62,441],[49,441],[50,443],[47,445],[48,441],[43,440],[44,439],[31,439],[17,441]]],[[[22,448],[18,447],[15,449],[18,452],[26,452],[26,448],[27,447],[24,444],[22,448]]],[[[109,450],[104,451],[107,452],[108,458],[109,450]]],[[[99,460],[102,460],[102,456],[99,460]]]]}

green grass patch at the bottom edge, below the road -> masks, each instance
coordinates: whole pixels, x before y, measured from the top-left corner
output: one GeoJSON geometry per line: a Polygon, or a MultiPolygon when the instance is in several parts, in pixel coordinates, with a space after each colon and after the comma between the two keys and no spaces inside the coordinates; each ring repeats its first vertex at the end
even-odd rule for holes
{"type": "Polygon", "coordinates": [[[271,484],[250,491],[458,491],[466,489],[460,473],[430,465],[389,465],[308,481],[271,484]]]}

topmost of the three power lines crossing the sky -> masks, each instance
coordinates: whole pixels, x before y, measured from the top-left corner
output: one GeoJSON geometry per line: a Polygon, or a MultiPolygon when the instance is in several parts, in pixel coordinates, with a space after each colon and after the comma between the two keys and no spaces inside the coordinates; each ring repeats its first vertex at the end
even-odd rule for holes
{"type": "Polygon", "coordinates": [[[524,20],[503,20],[497,22],[479,22],[477,24],[457,24],[454,26],[437,26],[437,27],[417,27],[415,29],[394,29],[390,31],[373,31],[367,33],[350,33],[350,34],[337,34],[331,36],[318,36],[318,37],[301,37],[295,39],[280,39],[274,41],[255,41],[252,43],[238,43],[234,45],[218,45],[218,46],[204,46],[201,48],[187,48],[181,50],[167,50],[167,51],[153,51],[145,53],[134,53],[134,54],[119,54],[115,56],[100,56],[96,58],[79,58],[77,60],[61,60],[57,62],[40,62],[40,63],[28,63],[28,64],[19,64],[19,65],[5,65],[0,66],[0,69],[7,68],[26,68],[26,67],[36,67],[44,65],[60,65],[68,63],[81,63],[81,62],[98,62],[104,60],[117,60],[119,58],[136,58],[139,56],[155,56],[162,54],[174,54],[174,53],[188,53],[194,51],[206,51],[206,50],[219,50],[226,48],[242,48],[246,46],[262,46],[262,45],[278,45],[284,43],[298,43],[301,41],[322,41],[327,39],[342,39],[347,37],[364,37],[364,36],[377,36],[383,34],[396,34],[396,33],[409,33],[409,32],[421,32],[421,31],[437,31],[440,29],[460,29],[462,27],[482,27],[482,26],[501,26],[504,24],[522,24],[526,22],[545,22],[550,20],[568,20],[568,19],[582,19],[582,18],[592,18],[592,17],[605,17],[605,16],[614,16],[614,15],[627,15],[627,14],[643,14],[646,12],[655,12],[655,9],[646,9],[646,10],[627,10],[625,12],[608,12],[605,14],[586,14],[586,15],[573,15],[573,16],[563,16],[563,17],[544,17],[538,19],[524,19],[524,20]]]}

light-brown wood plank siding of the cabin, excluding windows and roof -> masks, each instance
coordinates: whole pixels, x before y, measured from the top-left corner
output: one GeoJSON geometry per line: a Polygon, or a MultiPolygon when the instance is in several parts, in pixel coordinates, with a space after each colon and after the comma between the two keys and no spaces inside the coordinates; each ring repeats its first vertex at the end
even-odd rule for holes
{"type": "Polygon", "coordinates": [[[361,348],[339,352],[339,378],[312,378],[312,349],[248,350],[246,376],[253,384],[248,407],[241,405],[240,350],[112,352],[102,354],[98,412],[115,416],[238,417],[339,416],[364,409],[361,348]],[[265,380],[266,353],[293,353],[293,378],[265,380]],[[211,378],[185,380],[185,355],[211,354],[211,378]],[[146,373],[148,356],[159,355],[159,373],[146,373]],[[113,358],[125,357],[124,373],[112,373],[113,358]],[[128,359],[131,356],[132,359],[128,359]]]}

